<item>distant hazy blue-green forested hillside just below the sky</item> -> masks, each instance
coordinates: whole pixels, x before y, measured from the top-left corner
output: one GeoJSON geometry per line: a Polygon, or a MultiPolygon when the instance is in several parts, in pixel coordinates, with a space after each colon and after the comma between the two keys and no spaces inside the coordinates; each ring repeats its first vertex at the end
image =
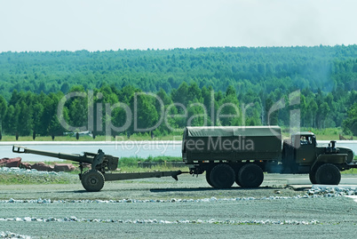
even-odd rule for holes
{"type": "Polygon", "coordinates": [[[312,92],[357,90],[357,45],[314,47],[210,47],[107,52],[1,52],[0,94],[14,90],[64,92],[102,84],[132,85],[144,92],[177,89],[183,82],[226,91],[312,92]]]}

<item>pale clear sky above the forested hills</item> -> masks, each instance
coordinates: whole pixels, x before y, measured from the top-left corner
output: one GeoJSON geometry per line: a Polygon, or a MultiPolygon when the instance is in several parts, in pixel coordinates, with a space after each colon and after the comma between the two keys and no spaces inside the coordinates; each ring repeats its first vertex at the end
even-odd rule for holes
{"type": "Polygon", "coordinates": [[[357,44],[355,0],[0,0],[0,52],[357,44]]]}

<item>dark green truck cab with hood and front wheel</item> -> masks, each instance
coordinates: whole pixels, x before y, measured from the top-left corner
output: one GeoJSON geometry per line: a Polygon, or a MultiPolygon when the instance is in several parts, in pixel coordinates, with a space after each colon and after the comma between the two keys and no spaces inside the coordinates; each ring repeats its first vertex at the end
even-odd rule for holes
{"type": "Polygon", "coordinates": [[[336,147],[331,140],[328,147],[319,146],[313,132],[305,131],[291,135],[283,141],[282,165],[284,173],[309,173],[313,184],[337,185],[340,171],[354,167],[353,151],[336,147]]]}

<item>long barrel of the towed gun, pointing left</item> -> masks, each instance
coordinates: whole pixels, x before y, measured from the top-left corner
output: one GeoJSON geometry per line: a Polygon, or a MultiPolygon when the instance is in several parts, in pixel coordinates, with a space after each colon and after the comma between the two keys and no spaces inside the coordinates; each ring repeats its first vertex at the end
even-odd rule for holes
{"type": "Polygon", "coordinates": [[[54,152],[50,152],[50,151],[36,150],[36,149],[17,146],[17,145],[12,146],[12,152],[19,153],[19,154],[33,154],[33,155],[44,155],[44,156],[49,156],[49,157],[56,157],[59,159],[71,160],[71,161],[75,161],[78,163],[92,163],[93,158],[94,158],[92,155],[85,155],[85,154],[84,155],[71,155],[71,154],[54,153],[54,152]]]}

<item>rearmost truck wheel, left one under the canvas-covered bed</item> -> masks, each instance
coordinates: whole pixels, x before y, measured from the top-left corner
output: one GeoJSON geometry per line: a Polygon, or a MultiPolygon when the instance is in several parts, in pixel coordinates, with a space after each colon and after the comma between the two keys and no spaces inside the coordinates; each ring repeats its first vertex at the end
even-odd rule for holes
{"type": "Polygon", "coordinates": [[[210,171],[210,183],[212,187],[229,188],[234,184],[235,173],[228,164],[218,164],[210,171]]]}

